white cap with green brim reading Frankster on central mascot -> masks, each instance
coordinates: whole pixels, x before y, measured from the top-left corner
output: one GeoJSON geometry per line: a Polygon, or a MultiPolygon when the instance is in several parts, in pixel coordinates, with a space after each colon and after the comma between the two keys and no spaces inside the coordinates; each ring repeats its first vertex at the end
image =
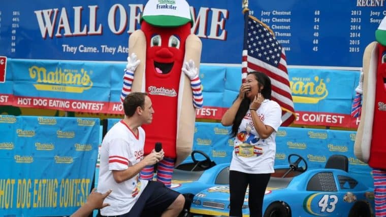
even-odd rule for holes
{"type": "Polygon", "coordinates": [[[185,0],[149,0],[143,9],[142,19],[160,27],[193,24],[189,4],[185,0]]]}

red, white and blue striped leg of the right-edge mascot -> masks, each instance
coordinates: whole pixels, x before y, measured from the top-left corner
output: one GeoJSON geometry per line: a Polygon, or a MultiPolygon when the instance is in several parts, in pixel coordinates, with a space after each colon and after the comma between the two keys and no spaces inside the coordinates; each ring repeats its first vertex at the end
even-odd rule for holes
{"type": "Polygon", "coordinates": [[[373,169],[375,216],[386,216],[386,170],[373,169]]]}

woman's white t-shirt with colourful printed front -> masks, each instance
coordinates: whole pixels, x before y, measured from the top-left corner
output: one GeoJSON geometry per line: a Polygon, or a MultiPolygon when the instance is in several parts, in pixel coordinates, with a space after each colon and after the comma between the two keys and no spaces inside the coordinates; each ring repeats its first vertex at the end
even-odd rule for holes
{"type": "Polygon", "coordinates": [[[230,170],[245,173],[273,173],[276,154],[275,137],[281,123],[281,108],[275,101],[265,99],[257,111],[248,110],[235,137],[230,170]],[[275,130],[268,138],[259,137],[250,112],[258,113],[260,120],[275,130]]]}

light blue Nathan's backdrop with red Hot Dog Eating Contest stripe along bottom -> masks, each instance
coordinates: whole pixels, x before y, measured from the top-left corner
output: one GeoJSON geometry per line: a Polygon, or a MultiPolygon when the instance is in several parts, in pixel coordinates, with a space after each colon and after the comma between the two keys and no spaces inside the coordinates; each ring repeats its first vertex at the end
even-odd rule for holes
{"type": "MultiPolygon", "coordinates": [[[[124,67],[125,63],[8,59],[0,104],[122,115],[124,67]]],[[[295,124],[356,129],[359,119],[350,113],[359,74],[358,70],[289,68],[298,115],[295,124]]],[[[202,65],[200,78],[204,106],[196,117],[218,122],[238,94],[241,66],[202,65]]]]}

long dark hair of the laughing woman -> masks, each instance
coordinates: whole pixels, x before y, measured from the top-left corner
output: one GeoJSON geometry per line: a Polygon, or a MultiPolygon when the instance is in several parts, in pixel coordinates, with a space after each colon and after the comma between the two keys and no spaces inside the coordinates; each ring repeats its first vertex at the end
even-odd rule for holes
{"type": "MultiPolygon", "coordinates": [[[[261,94],[264,96],[264,98],[271,99],[271,93],[272,93],[271,79],[266,74],[261,73],[260,71],[251,71],[247,75],[250,75],[250,74],[252,74],[256,80],[258,80],[260,86],[263,86],[263,89],[261,90],[261,94]]],[[[258,88],[260,88],[260,86],[258,88]]],[[[239,109],[237,110],[235,120],[233,120],[231,137],[235,137],[237,135],[237,131],[239,130],[241,121],[243,120],[245,114],[247,114],[249,110],[249,104],[250,104],[250,99],[247,97],[244,97],[243,100],[241,101],[239,109]]]]}

